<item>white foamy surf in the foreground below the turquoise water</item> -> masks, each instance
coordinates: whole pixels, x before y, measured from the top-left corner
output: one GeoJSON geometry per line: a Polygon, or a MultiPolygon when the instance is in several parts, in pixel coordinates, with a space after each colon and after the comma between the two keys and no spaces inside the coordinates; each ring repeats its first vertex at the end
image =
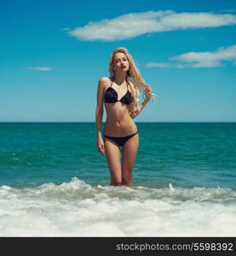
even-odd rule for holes
{"type": "Polygon", "coordinates": [[[0,187],[0,236],[236,236],[232,189],[0,187]]]}

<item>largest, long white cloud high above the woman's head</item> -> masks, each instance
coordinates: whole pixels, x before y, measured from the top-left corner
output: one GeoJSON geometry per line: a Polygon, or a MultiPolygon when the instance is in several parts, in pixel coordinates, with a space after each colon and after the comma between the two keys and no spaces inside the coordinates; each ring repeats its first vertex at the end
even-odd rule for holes
{"type": "Polygon", "coordinates": [[[167,32],[179,29],[229,26],[236,24],[236,15],[212,13],[179,13],[175,11],[148,11],[130,13],[114,19],[89,21],[85,26],[67,31],[79,40],[116,41],[135,38],[150,32],[167,32]]]}

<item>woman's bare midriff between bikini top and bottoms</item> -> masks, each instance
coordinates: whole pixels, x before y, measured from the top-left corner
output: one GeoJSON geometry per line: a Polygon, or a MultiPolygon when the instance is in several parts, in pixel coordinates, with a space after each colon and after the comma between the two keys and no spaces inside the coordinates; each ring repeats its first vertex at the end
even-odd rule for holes
{"type": "Polygon", "coordinates": [[[122,102],[107,103],[106,123],[103,134],[111,137],[125,137],[137,131],[134,120],[130,117],[129,108],[122,102]]]}

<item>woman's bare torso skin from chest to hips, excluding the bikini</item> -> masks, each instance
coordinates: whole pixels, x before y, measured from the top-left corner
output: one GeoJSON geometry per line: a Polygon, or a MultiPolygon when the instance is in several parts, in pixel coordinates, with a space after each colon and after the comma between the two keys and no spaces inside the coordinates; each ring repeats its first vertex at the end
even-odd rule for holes
{"type": "MultiPolygon", "coordinates": [[[[130,91],[130,85],[125,85],[124,90],[121,91],[117,89],[118,86],[112,82],[112,79],[107,78],[107,83],[103,90],[103,102],[106,108],[104,134],[113,137],[124,137],[135,133],[137,131],[137,127],[134,120],[130,117],[129,108],[131,103],[127,105],[123,102],[105,102],[105,93],[106,90],[111,87],[111,84],[112,90],[115,90],[118,95],[118,100],[124,100],[124,96],[129,96],[130,91]]],[[[113,93],[115,94],[115,92],[113,93]]]]}

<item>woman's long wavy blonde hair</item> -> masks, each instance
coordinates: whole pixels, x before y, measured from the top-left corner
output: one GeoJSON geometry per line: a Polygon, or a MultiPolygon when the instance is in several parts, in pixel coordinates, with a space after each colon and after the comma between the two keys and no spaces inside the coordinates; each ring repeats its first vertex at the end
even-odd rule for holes
{"type": "MultiPolygon", "coordinates": [[[[129,61],[129,71],[127,72],[127,81],[129,83],[129,80],[135,85],[135,91],[133,90],[133,87],[130,86],[131,90],[132,90],[132,94],[134,96],[134,102],[132,104],[133,109],[134,108],[138,108],[138,102],[139,102],[139,96],[140,96],[140,91],[142,91],[142,93],[144,94],[144,90],[145,90],[145,85],[146,82],[145,80],[141,77],[141,73],[139,72],[138,68],[135,65],[135,60],[133,58],[132,55],[130,55],[128,49],[126,48],[116,48],[113,49],[112,51],[112,55],[110,57],[110,62],[109,62],[109,73],[110,76],[113,78],[114,77],[114,72],[113,72],[113,67],[114,67],[114,55],[116,53],[124,53],[124,55],[126,55],[128,61],[129,61]]],[[[152,97],[153,100],[156,99],[156,95],[154,93],[152,93],[152,97]]]]}

